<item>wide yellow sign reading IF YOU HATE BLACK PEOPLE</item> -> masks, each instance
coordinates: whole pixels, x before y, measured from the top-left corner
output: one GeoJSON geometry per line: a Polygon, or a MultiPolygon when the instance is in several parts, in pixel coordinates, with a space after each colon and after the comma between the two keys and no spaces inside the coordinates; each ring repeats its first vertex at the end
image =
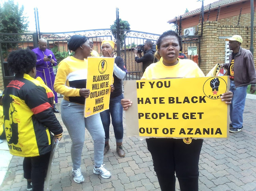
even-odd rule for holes
{"type": "Polygon", "coordinates": [[[127,136],[228,138],[228,90],[227,76],[125,81],[127,136]]]}

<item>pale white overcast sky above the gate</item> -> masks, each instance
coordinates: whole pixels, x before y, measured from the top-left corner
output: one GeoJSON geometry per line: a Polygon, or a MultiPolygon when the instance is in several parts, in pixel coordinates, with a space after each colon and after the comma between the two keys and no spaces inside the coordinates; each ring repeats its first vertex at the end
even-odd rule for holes
{"type": "MultiPolygon", "coordinates": [[[[0,0],[1,4],[7,0],[0,0]]],[[[204,0],[208,5],[216,0],[204,0]]],[[[38,7],[40,32],[70,32],[92,29],[109,29],[116,19],[116,7],[119,18],[130,24],[130,30],[162,34],[172,29],[167,23],[188,11],[201,8],[197,0],[14,0],[24,5],[24,14],[28,17],[29,31],[35,31],[34,7],[38,7]]]]}

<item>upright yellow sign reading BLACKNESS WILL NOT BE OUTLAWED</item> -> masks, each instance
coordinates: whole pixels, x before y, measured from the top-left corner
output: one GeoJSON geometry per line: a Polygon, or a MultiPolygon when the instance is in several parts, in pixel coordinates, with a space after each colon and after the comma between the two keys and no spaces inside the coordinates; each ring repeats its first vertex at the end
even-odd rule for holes
{"type": "Polygon", "coordinates": [[[109,109],[114,62],[109,57],[88,57],[86,88],[90,95],[85,99],[85,117],[109,109]]]}

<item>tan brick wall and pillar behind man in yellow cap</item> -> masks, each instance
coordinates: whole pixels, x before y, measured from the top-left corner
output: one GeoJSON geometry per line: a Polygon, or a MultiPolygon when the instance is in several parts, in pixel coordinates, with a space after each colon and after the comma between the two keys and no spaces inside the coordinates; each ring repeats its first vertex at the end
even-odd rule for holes
{"type": "MultiPolygon", "coordinates": [[[[200,39],[201,60],[199,65],[204,74],[207,74],[217,63],[225,62],[225,38],[235,34],[243,38],[241,47],[250,50],[250,27],[221,25],[217,21],[204,22],[203,35],[200,39]]],[[[201,24],[199,24],[198,35],[201,35],[201,24]]],[[[254,28],[253,44],[255,49],[256,27],[254,28]]],[[[256,63],[256,51],[254,51],[254,63],[256,63]]]]}

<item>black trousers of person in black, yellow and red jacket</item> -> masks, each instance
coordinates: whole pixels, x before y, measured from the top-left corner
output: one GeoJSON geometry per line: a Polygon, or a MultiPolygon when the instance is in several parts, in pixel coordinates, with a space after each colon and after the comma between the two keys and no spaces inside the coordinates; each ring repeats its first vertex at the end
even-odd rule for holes
{"type": "Polygon", "coordinates": [[[33,190],[44,190],[50,155],[51,152],[36,157],[25,157],[23,160],[24,178],[31,179],[33,190]]]}

